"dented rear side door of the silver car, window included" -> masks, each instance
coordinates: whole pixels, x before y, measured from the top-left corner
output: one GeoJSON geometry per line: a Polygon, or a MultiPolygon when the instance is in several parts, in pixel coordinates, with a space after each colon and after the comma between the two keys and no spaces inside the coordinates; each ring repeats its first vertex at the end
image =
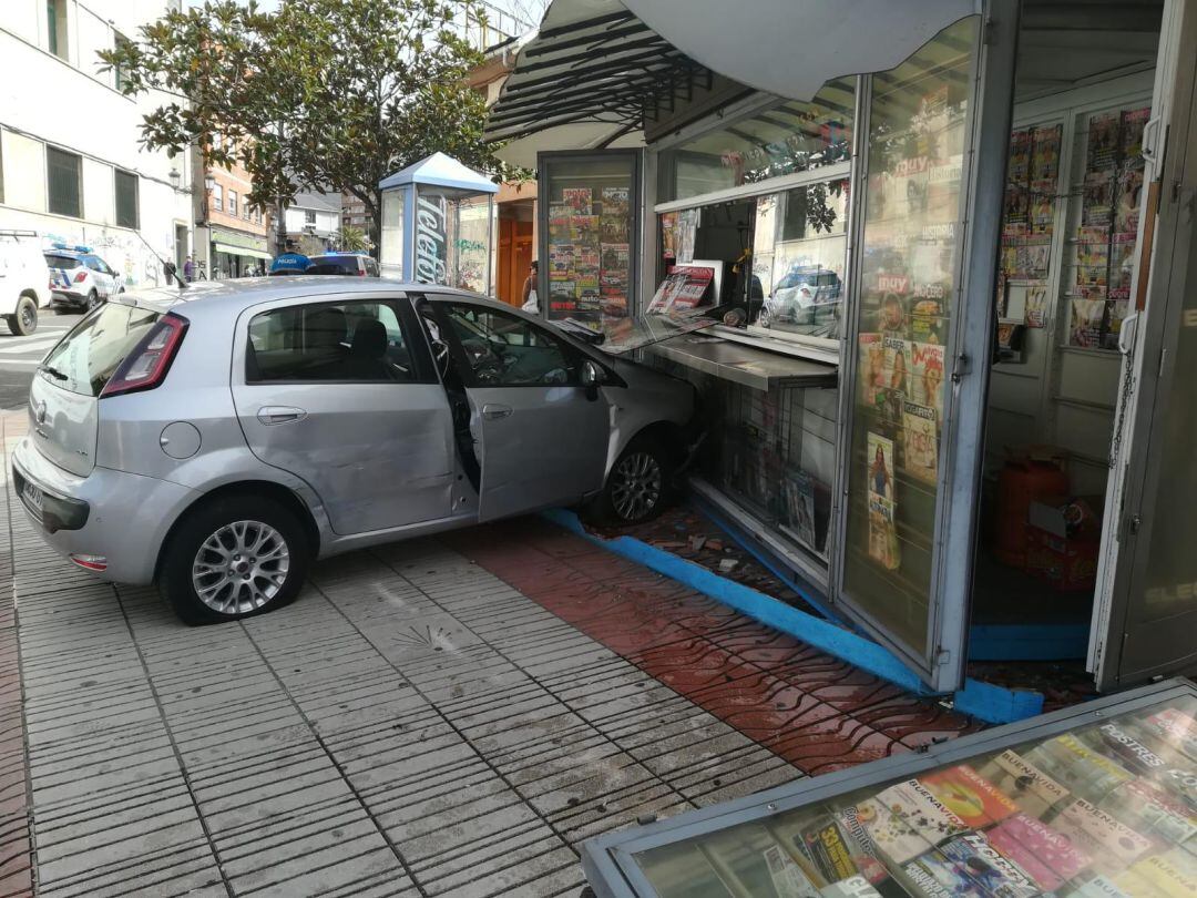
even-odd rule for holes
{"type": "Polygon", "coordinates": [[[359,293],[241,316],[232,392],[250,449],[303,478],[334,532],[449,517],[452,424],[411,308],[359,293]]]}

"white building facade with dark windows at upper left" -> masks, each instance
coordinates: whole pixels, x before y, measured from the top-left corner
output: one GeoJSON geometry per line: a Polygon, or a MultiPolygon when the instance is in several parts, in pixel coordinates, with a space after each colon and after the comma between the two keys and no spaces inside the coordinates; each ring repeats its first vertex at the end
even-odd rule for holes
{"type": "Polygon", "coordinates": [[[126,97],[97,53],[178,0],[8,0],[0,17],[0,230],[84,244],[133,286],[193,253],[193,172],[139,145],[164,97],[126,97]],[[41,101],[35,102],[36,90],[41,101]]]}

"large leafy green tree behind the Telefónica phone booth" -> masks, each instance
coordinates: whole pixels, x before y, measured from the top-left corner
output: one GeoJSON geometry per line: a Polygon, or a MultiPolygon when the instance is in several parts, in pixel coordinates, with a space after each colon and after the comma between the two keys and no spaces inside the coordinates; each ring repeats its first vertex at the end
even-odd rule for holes
{"type": "Polygon", "coordinates": [[[467,16],[484,17],[474,0],[287,0],[269,13],[205,0],[99,55],[128,74],[124,92],[166,91],[142,121],[147,146],[241,162],[259,207],[346,190],[377,247],[387,175],[436,151],[503,170],[464,80],[481,61],[455,31],[467,16]]]}

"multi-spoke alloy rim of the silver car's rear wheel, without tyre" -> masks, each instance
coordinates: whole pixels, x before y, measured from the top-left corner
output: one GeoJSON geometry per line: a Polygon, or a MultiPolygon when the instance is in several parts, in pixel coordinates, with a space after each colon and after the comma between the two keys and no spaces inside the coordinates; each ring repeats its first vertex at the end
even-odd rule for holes
{"type": "Polygon", "coordinates": [[[269,603],[286,582],[291,550],[261,521],[225,524],[200,546],[192,588],[218,614],[248,614],[269,603]]]}

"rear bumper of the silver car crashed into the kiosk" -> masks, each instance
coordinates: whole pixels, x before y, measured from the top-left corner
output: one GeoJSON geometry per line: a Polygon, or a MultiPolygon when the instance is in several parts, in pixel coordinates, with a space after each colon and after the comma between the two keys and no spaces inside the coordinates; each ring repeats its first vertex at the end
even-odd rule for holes
{"type": "Polygon", "coordinates": [[[87,477],[63,471],[25,437],[12,456],[13,485],[30,522],[59,554],[102,556],[101,580],[150,583],[162,541],[178,515],[196,497],[194,490],[110,468],[87,477]],[[23,499],[29,483],[44,494],[37,515],[23,499]]]}

